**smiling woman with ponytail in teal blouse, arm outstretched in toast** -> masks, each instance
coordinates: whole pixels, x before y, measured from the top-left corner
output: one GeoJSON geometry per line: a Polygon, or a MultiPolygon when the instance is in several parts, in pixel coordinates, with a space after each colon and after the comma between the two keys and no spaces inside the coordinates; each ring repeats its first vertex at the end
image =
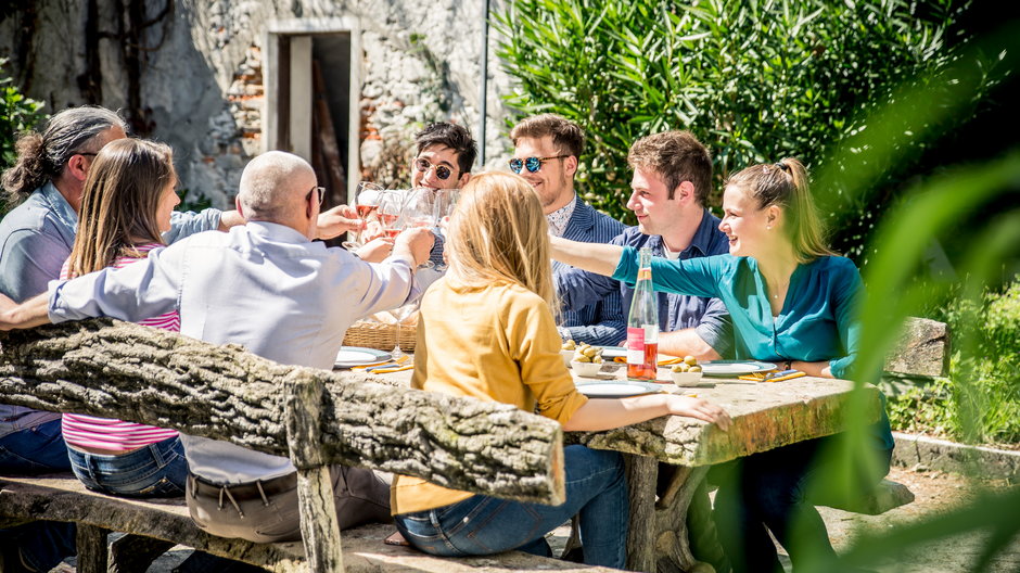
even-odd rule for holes
{"type": "MultiPolygon", "coordinates": [[[[847,377],[859,336],[854,310],[860,275],[850,259],[825,245],[804,166],[787,158],[738,173],[726,182],[723,212],[719,229],[729,239],[729,254],[655,258],[655,289],[722,300],[732,318],[740,358],[778,362],[816,377],[847,377]]],[[[628,283],[637,278],[633,247],[553,239],[552,257],[628,283]]],[[[864,485],[889,471],[893,440],[884,412],[875,434],[879,463],[862,464],[878,466],[862,472],[864,485]]],[[[715,519],[734,571],[782,571],[766,527],[788,550],[794,570],[837,559],[806,489],[819,470],[819,450],[839,442],[839,436],[802,442],[713,470],[710,479],[719,483],[715,519]]]]}

